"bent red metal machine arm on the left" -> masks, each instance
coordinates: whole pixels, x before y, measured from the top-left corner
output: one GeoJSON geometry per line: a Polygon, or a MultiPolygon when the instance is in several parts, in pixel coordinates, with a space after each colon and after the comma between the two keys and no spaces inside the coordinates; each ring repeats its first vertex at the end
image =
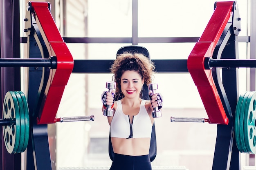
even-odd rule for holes
{"type": "Polygon", "coordinates": [[[44,97],[38,113],[38,124],[50,124],[55,123],[56,113],[72,73],[74,61],[52,18],[48,2],[31,2],[31,8],[49,55],[56,56],[57,60],[57,67],[50,69],[48,81],[45,82],[47,86],[45,91],[41,92],[44,93],[44,97]]]}

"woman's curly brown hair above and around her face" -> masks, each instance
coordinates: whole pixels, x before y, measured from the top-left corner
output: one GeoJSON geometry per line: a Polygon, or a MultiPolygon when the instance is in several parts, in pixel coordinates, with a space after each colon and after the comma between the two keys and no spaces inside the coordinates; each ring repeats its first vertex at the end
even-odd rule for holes
{"type": "Polygon", "coordinates": [[[116,82],[116,96],[121,93],[121,76],[125,71],[136,71],[148,85],[152,82],[154,70],[154,63],[144,54],[125,52],[117,55],[117,59],[110,68],[114,74],[112,79],[116,82]]]}

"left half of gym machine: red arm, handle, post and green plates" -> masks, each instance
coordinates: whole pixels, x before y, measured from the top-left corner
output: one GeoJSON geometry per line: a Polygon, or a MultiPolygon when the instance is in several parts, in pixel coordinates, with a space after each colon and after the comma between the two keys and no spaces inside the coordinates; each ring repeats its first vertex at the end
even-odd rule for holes
{"type": "Polygon", "coordinates": [[[29,67],[27,99],[21,91],[7,92],[0,120],[7,151],[27,149],[27,170],[52,169],[47,124],[94,121],[93,115],[56,118],[74,61],[50,9],[48,2],[28,2],[24,19],[28,58],[1,59],[1,67],[29,67]]]}

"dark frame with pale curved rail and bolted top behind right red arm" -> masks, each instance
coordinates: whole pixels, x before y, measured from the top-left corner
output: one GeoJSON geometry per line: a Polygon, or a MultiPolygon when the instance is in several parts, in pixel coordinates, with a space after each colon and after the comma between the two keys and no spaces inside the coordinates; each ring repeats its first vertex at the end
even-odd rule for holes
{"type": "MultiPolygon", "coordinates": [[[[239,11],[233,5],[233,16],[239,18],[239,11]]],[[[238,21],[228,22],[220,40],[213,51],[213,62],[218,64],[218,59],[237,60],[238,59],[238,32],[234,27],[238,21]],[[214,60],[215,59],[215,60],[214,60]]],[[[240,22],[239,22],[240,24],[240,22]]],[[[239,26],[240,27],[240,26],[239,26]]],[[[209,62],[210,63],[210,62],[209,62]]],[[[220,70],[220,67],[212,68],[213,80],[220,95],[225,113],[229,119],[228,125],[217,125],[217,138],[215,152],[213,157],[212,170],[240,170],[239,151],[234,137],[234,118],[236,113],[236,104],[238,99],[238,68],[235,63],[229,63],[230,67],[220,70]],[[220,76],[222,71],[222,78],[220,76]]]]}

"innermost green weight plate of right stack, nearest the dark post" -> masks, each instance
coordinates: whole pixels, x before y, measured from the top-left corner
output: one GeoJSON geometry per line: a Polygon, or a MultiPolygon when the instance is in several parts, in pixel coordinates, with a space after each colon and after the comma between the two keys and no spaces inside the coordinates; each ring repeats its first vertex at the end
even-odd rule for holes
{"type": "Polygon", "coordinates": [[[239,115],[240,115],[240,108],[243,101],[245,93],[240,94],[237,105],[236,105],[236,115],[235,115],[235,138],[236,138],[236,146],[240,152],[243,152],[241,142],[240,142],[240,135],[239,135],[239,115]]]}

